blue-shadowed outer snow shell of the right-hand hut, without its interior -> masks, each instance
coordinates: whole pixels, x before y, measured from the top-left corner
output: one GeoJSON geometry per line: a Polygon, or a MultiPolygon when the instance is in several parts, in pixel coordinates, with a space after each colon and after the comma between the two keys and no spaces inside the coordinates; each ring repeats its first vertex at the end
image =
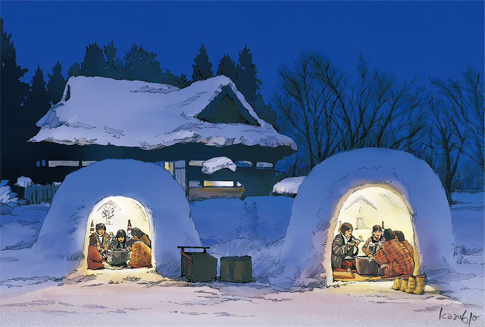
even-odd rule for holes
{"type": "Polygon", "coordinates": [[[281,250],[280,262],[285,267],[278,283],[332,282],[329,272],[337,205],[349,191],[368,185],[399,192],[412,211],[421,272],[443,268],[453,260],[450,207],[435,172],[409,153],[364,148],[329,157],[301,184],[281,250]]]}

